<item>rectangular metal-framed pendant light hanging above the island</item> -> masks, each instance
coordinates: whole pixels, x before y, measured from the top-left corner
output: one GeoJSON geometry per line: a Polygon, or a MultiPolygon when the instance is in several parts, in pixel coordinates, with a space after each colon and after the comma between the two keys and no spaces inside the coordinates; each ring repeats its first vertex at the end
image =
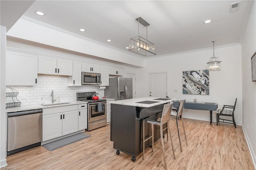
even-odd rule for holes
{"type": "Polygon", "coordinates": [[[156,55],[155,45],[149,42],[148,39],[148,22],[146,22],[143,18],[136,18],[138,21],[138,37],[134,37],[130,39],[129,43],[129,51],[134,53],[138,53],[144,56],[156,55]],[[146,27],[146,39],[140,36],[140,24],[146,27]]]}

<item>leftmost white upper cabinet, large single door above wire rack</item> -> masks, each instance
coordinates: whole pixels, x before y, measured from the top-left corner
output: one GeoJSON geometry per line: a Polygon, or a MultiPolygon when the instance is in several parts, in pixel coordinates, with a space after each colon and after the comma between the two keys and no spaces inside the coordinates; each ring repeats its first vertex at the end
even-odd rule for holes
{"type": "Polygon", "coordinates": [[[37,85],[37,55],[6,51],[6,86],[37,85]]]}

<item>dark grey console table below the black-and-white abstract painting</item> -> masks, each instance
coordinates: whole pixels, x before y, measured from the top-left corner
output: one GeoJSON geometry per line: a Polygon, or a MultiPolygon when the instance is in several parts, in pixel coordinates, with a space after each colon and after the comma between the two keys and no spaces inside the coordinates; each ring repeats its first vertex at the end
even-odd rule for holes
{"type": "MultiPolygon", "coordinates": [[[[179,101],[173,102],[173,107],[178,107],[179,101]]],[[[210,111],[210,125],[212,125],[212,111],[216,111],[218,103],[208,103],[208,102],[190,102],[186,101],[184,109],[202,110],[210,111]]]]}

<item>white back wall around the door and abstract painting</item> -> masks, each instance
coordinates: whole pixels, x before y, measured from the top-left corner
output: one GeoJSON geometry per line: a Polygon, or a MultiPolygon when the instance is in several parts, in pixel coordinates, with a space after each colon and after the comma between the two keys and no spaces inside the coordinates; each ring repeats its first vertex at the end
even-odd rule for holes
{"type": "MultiPolygon", "coordinates": [[[[216,45],[218,42],[216,42],[216,45]]],[[[146,59],[145,67],[138,72],[138,97],[148,96],[149,73],[158,71],[168,72],[167,94],[171,98],[192,101],[218,103],[218,108],[223,105],[234,105],[238,98],[235,120],[237,125],[242,125],[242,66],[241,45],[226,45],[215,48],[215,55],[220,58],[221,71],[210,72],[210,95],[183,95],[182,71],[207,69],[207,62],[213,55],[213,49],[202,49],[184,52],[165,57],[146,59]],[[146,82],[146,83],[145,83],[146,82]],[[146,86],[145,86],[146,84],[146,86]],[[177,89],[177,93],[174,90],[177,89]]],[[[213,112],[213,121],[216,121],[216,112],[213,112]]],[[[209,121],[209,111],[185,109],[184,117],[209,121]]]]}

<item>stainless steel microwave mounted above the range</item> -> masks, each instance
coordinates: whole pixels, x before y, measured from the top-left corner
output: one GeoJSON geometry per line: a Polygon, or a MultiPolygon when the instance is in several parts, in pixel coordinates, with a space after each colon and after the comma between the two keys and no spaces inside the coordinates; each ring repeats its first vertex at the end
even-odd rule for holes
{"type": "Polygon", "coordinates": [[[100,85],[100,73],[82,72],[82,85],[100,85]]]}

